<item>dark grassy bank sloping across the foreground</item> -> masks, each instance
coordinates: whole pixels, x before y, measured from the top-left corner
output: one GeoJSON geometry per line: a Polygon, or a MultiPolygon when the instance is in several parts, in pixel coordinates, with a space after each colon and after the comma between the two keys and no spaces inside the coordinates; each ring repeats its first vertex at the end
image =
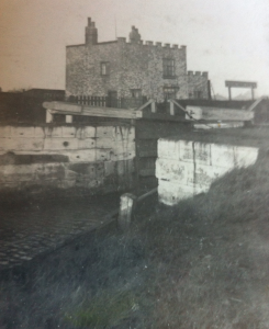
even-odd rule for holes
{"type": "MultiPolygon", "coordinates": [[[[266,145],[266,141],[262,140],[266,145]]],[[[0,328],[269,328],[269,157],[1,273],[0,328]]]]}

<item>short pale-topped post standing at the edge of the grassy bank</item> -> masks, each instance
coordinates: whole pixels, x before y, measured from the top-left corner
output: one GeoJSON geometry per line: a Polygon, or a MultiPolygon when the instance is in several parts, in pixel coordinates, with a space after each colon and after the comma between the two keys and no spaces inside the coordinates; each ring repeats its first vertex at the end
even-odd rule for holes
{"type": "Polygon", "coordinates": [[[126,231],[130,228],[135,205],[136,205],[135,195],[131,193],[125,193],[121,196],[117,223],[120,228],[124,231],[126,231]]]}

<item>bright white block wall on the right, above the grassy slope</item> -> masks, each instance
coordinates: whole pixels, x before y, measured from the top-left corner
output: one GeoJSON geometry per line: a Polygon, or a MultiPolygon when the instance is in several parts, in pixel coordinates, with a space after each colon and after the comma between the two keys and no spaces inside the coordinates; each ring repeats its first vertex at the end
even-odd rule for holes
{"type": "Polygon", "coordinates": [[[176,205],[182,198],[208,192],[215,179],[235,167],[255,163],[257,157],[258,148],[254,147],[159,139],[159,202],[176,205]]]}

